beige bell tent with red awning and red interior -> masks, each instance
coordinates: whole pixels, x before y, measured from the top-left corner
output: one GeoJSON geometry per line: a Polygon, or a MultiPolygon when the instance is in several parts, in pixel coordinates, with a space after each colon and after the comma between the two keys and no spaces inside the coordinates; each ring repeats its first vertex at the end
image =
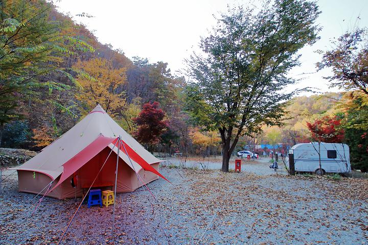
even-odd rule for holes
{"type": "Polygon", "coordinates": [[[18,172],[19,191],[64,199],[80,197],[92,184],[112,187],[118,152],[117,192],[133,191],[158,176],[166,179],[158,173],[162,160],[144,149],[98,105],[35,157],[13,168],[18,172]]]}

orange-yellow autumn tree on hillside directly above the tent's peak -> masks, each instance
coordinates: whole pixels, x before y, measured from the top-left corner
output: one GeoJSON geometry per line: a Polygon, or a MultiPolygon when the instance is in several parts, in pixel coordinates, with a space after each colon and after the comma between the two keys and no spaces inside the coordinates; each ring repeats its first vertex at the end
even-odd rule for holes
{"type": "Polygon", "coordinates": [[[77,99],[87,110],[100,104],[106,112],[114,115],[125,105],[122,85],[126,82],[126,68],[115,68],[111,61],[94,58],[79,61],[74,69],[79,71],[77,82],[80,90],[77,99]]]}

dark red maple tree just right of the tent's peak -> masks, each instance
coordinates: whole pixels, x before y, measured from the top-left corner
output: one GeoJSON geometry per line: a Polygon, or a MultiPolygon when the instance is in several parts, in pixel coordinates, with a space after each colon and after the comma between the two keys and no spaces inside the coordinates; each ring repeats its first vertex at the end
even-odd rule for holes
{"type": "Polygon", "coordinates": [[[158,102],[146,103],[140,114],[133,118],[135,124],[139,126],[134,136],[141,143],[153,145],[159,142],[160,136],[169,126],[168,121],[164,120],[165,112],[158,107],[158,102]]]}

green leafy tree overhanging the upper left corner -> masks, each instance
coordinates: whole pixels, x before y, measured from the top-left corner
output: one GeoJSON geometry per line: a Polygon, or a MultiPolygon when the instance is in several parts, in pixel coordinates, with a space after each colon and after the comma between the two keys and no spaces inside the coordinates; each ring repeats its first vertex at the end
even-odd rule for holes
{"type": "Polygon", "coordinates": [[[21,117],[21,102],[31,102],[41,90],[51,94],[71,88],[51,76],[57,71],[73,80],[58,69],[62,57],[75,52],[68,48],[93,51],[85,42],[61,35],[63,22],[54,20],[52,11],[52,4],[43,0],[0,2],[0,139],[5,124],[21,117]]]}

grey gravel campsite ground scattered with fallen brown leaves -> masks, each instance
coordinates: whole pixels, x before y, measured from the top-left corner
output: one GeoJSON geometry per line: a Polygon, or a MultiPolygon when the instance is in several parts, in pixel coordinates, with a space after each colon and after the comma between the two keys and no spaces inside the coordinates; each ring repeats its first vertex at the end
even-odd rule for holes
{"type": "MultiPolygon", "coordinates": [[[[368,244],[368,180],[160,172],[172,184],[148,185],[156,201],[143,188],[118,194],[114,238],[112,206],[82,205],[61,244],[368,244]]],[[[15,174],[3,184],[0,244],[57,243],[80,199],[45,198],[32,215],[38,198],[17,192],[15,174]]]]}

